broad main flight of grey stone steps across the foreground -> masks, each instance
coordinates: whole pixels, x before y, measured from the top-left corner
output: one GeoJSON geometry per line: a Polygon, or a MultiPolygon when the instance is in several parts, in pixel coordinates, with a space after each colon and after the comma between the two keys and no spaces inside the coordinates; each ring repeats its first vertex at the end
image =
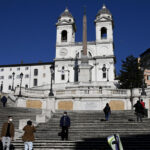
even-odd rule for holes
{"type": "MultiPolygon", "coordinates": [[[[57,111],[47,123],[37,126],[35,150],[111,150],[107,136],[116,133],[124,150],[150,150],[150,120],[144,118],[142,123],[137,123],[133,111],[112,111],[108,122],[101,120],[102,111],[70,111],[69,141],[61,141],[58,136],[62,113],[57,111]]],[[[14,145],[17,150],[23,149],[21,139],[14,145]]]]}

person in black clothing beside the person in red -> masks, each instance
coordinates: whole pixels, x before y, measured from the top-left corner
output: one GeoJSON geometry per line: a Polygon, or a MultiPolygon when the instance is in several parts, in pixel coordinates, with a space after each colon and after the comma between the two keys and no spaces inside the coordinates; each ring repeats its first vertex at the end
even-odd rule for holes
{"type": "Polygon", "coordinates": [[[137,116],[137,122],[139,122],[139,120],[142,122],[142,115],[143,115],[143,110],[144,110],[142,104],[138,100],[133,107],[135,107],[135,113],[136,113],[136,116],[137,116]]]}

